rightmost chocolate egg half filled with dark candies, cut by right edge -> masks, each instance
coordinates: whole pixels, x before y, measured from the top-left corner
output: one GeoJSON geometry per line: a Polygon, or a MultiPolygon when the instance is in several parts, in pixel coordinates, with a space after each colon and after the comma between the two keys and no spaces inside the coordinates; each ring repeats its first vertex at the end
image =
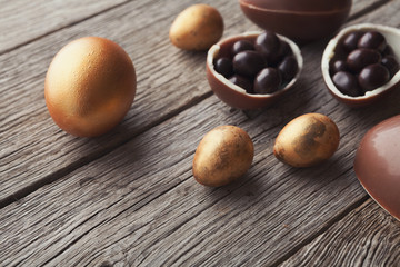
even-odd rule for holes
{"type": "Polygon", "coordinates": [[[322,76],[330,93],[350,107],[364,107],[400,88],[400,47],[397,46],[399,40],[400,30],[388,26],[361,23],[342,29],[330,40],[322,55],[322,76]],[[364,48],[363,40],[376,42],[376,48],[364,48]],[[392,59],[389,66],[388,58],[392,59]],[[339,66],[339,61],[343,61],[344,67],[339,66]],[[358,65],[361,66],[359,69],[358,65]],[[350,82],[354,79],[350,76],[341,79],[348,82],[334,77],[340,68],[353,75],[356,81],[350,82]],[[373,69],[377,71],[371,71],[373,69]],[[368,79],[366,73],[376,73],[376,79],[368,79]],[[366,80],[378,83],[369,88],[369,85],[364,85],[366,80]]]}

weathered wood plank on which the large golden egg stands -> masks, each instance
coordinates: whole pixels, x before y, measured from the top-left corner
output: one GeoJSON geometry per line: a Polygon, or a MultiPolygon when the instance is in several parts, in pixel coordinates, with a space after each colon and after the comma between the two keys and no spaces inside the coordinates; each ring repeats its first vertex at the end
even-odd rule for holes
{"type": "MultiPolygon", "coordinates": [[[[68,172],[90,161],[210,95],[206,55],[182,52],[168,39],[173,17],[190,3],[172,1],[166,8],[164,1],[133,1],[0,56],[4,85],[0,95],[0,202],[37,187],[43,177],[52,179],[57,171],[68,172]],[[138,95],[126,120],[109,135],[78,139],[52,122],[43,80],[53,55],[71,39],[88,34],[108,37],[127,50],[137,69],[138,95]]],[[[256,29],[236,2],[221,1],[218,8],[227,18],[226,34],[256,29]]]]}

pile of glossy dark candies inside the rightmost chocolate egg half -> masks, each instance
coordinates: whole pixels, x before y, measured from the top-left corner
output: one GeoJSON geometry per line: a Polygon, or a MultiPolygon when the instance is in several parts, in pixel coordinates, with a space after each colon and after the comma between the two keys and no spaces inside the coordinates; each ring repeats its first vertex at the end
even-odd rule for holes
{"type": "Polygon", "coordinates": [[[384,36],[377,30],[348,33],[339,40],[329,65],[334,86],[350,97],[384,86],[399,70],[392,52],[384,36]]]}

